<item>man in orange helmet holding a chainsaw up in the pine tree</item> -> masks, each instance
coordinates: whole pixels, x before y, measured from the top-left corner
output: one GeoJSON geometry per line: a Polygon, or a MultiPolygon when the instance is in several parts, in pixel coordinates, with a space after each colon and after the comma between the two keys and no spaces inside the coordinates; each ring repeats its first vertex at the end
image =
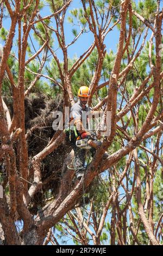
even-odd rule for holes
{"type": "MultiPolygon", "coordinates": [[[[89,87],[82,86],[78,91],[79,100],[75,103],[70,112],[70,129],[66,131],[66,137],[70,141],[71,147],[74,150],[74,167],[76,169],[76,176],[80,180],[86,167],[85,158],[87,154],[87,148],[91,148],[92,156],[95,155],[96,149],[101,146],[101,141],[95,139],[96,135],[89,128],[89,115],[92,115],[93,111],[87,105],[89,100],[89,87]],[[87,139],[87,144],[84,147],[77,147],[77,141],[87,139]],[[87,147],[88,146],[88,147],[87,147]]],[[[103,155],[103,159],[108,157],[108,154],[103,155]]]]}

